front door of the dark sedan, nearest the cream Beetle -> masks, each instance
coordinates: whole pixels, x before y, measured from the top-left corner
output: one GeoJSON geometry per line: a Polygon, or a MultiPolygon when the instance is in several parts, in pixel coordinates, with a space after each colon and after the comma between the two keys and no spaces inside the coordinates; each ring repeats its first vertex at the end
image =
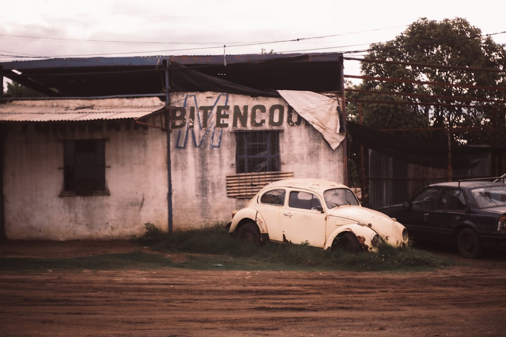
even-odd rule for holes
{"type": "Polygon", "coordinates": [[[430,240],[430,222],[432,212],[440,194],[440,188],[427,187],[416,195],[410,202],[409,207],[399,210],[394,217],[402,223],[415,241],[430,240]]]}

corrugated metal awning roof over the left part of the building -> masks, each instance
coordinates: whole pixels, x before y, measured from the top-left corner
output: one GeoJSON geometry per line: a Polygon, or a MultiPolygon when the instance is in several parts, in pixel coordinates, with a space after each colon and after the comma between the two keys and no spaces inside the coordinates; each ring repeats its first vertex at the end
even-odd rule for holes
{"type": "Polygon", "coordinates": [[[0,121],[50,122],[140,118],[162,109],[157,97],[96,100],[22,100],[0,104],[0,121]]]}

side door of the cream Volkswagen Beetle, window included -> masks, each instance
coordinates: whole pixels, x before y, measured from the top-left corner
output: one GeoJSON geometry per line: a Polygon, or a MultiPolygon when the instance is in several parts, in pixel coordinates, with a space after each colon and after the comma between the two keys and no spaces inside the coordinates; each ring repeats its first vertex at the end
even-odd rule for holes
{"type": "Polygon", "coordinates": [[[316,194],[291,190],[288,203],[281,210],[283,241],[300,245],[323,247],[325,245],[326,216],[316,194]]]}

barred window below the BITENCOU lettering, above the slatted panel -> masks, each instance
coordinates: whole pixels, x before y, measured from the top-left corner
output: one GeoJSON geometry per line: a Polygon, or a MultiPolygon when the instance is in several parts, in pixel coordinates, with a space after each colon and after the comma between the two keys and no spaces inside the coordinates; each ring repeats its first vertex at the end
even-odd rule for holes
{"type": "Polygon", "coordinates": [[[280,170],[279,131],[237,131],[236,138],[236,173],[280,170]]]}

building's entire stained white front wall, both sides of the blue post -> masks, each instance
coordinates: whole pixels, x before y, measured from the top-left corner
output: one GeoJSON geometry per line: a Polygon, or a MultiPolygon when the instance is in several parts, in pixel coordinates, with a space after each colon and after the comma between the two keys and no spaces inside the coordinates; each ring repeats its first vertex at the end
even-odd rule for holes
{"type": "MultiPolygon", "coordinates": [[[[248,202],[227,196],[226,175],[236,173],[234,130],[279,130],[282,172],[293,172],[294,177],[344,181],[343,147],[332,150],[305,121],[294,125],[299,117],[296,112],[288,121],[288,105],[281,98],[173,93],[171,106],[186,114],[174,119],[170,133],[175,231],[225,224],[231,220],[232,211],[248,202]],[[212,108],[203,127],[205,106],[212,108]],[[252,115],[254,106],[265,107],[266,112],[258,110],[252,115]],[[269,110],[273,106],[277,108],[270,121],[269,110]],[[218,107],[228,107],[221,108],[219,119],[218,107]],[[234,126],[235,107],[247,113],[246,125],[234,126]]],[[[142,235],[146,222],[167,230],[167,133],[157,128],[135,129],[132,123],[120,121],[119,128],[109,128],[107,122],[5,124],[3,192],[7,238],[129,239],[133,234],[142,235]],[[107,139],[109,196],[60,196],[62,141],[68,139],[107,139]]]]}

